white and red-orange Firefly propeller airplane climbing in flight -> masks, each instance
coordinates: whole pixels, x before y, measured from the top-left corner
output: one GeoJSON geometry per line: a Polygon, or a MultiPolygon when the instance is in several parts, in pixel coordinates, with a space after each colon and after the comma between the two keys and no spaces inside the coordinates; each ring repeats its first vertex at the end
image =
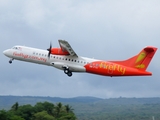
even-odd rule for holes
{"type": "Polygon", "coordinates": [[[157,49],[147,46],[142,51],[121,61],[106,61],[81,57],[76,54],[66,40],[58,40],[59,48],[50,47],[47,50],[16,45],[3,51],[3,54],[13,60],[26,61],[42,65],[48,65],[63,70],[69,77],[73,72],[86,72],[103,76],[151,76],[146,71],[157,49]]]}

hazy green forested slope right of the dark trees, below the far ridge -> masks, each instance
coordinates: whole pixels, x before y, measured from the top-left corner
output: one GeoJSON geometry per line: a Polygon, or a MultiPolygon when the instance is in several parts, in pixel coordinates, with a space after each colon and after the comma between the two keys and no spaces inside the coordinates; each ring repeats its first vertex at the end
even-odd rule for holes
{"type": "Polygon", "coordinates": [[[160,104],[85,104],[75,113],[80,120],[160,120],[160,104]]]}

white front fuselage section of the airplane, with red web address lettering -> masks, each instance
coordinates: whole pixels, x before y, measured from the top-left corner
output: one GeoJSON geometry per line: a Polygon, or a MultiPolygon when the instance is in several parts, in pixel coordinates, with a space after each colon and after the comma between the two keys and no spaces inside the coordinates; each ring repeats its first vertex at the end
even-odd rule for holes
{"type": "Polygon", "coordinates": [[[86,69],[84,66],[95,61],[95,59],[70,55],[51,54],[50,57],[48,57],[47,50],[25,46],[15,46],[5,50],[3,53],[11,59],[53,66],[61,70],[64,70],[64,67],[68,67],[72,72],[85,72],[86,69]]]}

